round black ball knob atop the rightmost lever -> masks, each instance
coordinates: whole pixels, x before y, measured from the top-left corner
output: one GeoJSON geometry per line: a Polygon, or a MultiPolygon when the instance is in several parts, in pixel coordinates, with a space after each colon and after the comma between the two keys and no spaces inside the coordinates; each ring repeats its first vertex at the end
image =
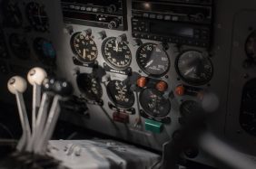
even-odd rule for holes
{"type": "Polygon", "coordinates": [[[66,80],[55,80],[54,92],[62,97],[68,97],[73,93],[73,87],[70,82],[66,80]]]}

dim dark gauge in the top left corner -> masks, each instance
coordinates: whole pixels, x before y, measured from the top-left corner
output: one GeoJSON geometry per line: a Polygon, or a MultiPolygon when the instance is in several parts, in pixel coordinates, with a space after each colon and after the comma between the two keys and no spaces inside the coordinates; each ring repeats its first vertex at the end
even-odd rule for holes
{"type": "Polygon", "coordinates": [[[3,14],[5,16],[4,22],[7,26],[18,28],[23,23],[22,13],[14,1],[4,1],[3,14]]]}

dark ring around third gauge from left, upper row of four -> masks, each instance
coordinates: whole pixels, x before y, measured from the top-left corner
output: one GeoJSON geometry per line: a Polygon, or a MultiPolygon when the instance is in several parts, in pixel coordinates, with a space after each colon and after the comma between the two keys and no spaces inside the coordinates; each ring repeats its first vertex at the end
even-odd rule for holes
{"type": "Polygon", "coordinates": [[[139,66],[139,68],[140,68],[141,70],[143,70],[143,72],[144,72],[145,74],[147,74],[147,75],[149,75],[149,76],[156,77],[156,78],[162,77],[162,76],[164,76],[164,75],[170,70],[170,68],[171,68],[172,62],[171,62],[171,60],[170,60],[169,54],[168,54],[166,51],[164,51],[164,50],[162,51],[162,52],[165,52],[165,54],[166,54],[166,56],[167,56],[167,58],[168,58],[169,64],[168,64],[167,70],[165,70],[165,71],[164,71],[163,73],[161,73],[161,74],[151,74],[151,73],[149,73],[147,70],[145,70],[145,69],[143,68],[143,66],[141,65],[141,63],[140,63],[140,61],[139,61],[139,54],[140,54],[140,52],[142,51],[143,47],[146,46],[146,45],[148,45],[148,44],[157,45],[156,43],[153,43],[153,42],[145,42],[145,43],[143,43],[143,44],[138,48],[138,50],[137,50],[137,52],[136,52],[136,61],[137,61],[137,65],[139,66]]]}

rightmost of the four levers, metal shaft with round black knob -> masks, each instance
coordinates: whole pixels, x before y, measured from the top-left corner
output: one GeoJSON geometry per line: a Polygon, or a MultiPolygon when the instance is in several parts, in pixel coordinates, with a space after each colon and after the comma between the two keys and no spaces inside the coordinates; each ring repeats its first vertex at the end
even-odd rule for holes
{"type": "Polygon", "coordinates": [[[61,111],[59,101],[70,96],[73,92],[73,88],[72,85],[65,80],[55,80],[53,91],[55,96],[45,123],[44,131],[42,135],[38,134],[41,138],[38,140],[38,144],[34,147],[34,152],[37,154],[44,154],[48,140],[53,136],[54,127],[61,111]]]}

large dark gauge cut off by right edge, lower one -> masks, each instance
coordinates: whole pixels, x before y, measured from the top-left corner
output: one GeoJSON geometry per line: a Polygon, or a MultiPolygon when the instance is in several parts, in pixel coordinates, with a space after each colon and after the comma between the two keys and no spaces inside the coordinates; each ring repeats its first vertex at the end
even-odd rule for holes
{"type": "Polygon", "coordinates": [[[249,81],[243,89],[240,112],[241,127],[256,136],[256,79],[249,81]]]}

